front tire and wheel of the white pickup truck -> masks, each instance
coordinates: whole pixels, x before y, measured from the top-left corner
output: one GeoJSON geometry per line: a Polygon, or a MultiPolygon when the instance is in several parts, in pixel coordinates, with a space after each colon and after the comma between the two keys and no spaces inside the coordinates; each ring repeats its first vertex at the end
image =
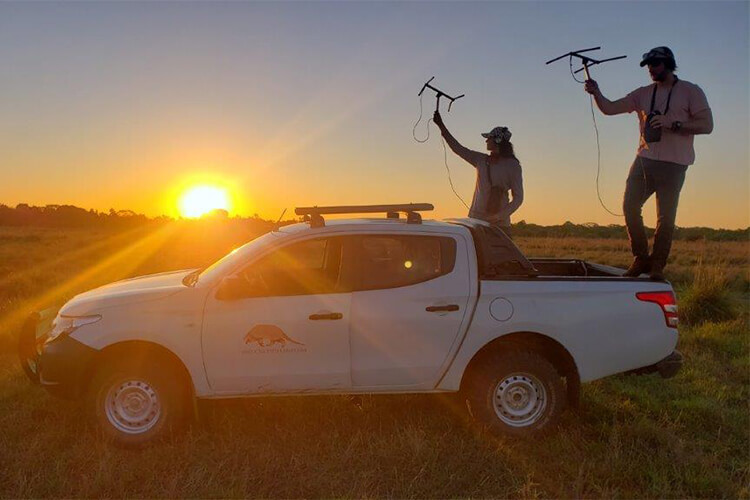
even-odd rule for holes
{"type": "Polygon", "coordinates": [[[185,429],[189,391],[170,368],[157,359],[122,360],[96,374],[89,406],[106,438],[117,446],[137,448],[185,429]]]}

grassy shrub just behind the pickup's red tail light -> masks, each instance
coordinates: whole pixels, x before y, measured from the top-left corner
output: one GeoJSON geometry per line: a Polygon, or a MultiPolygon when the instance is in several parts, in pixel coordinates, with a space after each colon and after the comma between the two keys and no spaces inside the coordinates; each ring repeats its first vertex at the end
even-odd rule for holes
{"type": "Polygon", "coordinates": [[[707,321],[728,321],[737,317],[727,273],[721,266],[704,266],[699,260],[693,281],[679,296],[680,321],[700,325],[707,321]]]}

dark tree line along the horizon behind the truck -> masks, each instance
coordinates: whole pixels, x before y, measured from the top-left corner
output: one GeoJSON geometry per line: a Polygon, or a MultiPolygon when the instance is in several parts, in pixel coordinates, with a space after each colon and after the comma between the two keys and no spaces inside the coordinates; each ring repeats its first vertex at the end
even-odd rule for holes
{"type": "MultiPolygon", "coordinates": [[[[19,203],[15,207],[0,204],[0,226],[29,226],[29,227],[96,227],[96,228],[131,228],[143,225],[167,224],[176,220],[193,221],[193,219],[175,219],[166,215],[147,217],[132,210],[114,210],[99,212],[94,209],[86,210],[74,205],[45,205],[33,206],[19,203]]],[[[216,209],[204,215],[198,221],[203,222],[235,222],[252,223],[259,229],[270,230],[275,221],[265,220],[257,214],[252,217],[229,217],[226,210],[216,209]]],[[[286,220],[281,225],[298,222],[286,220]]],[[[653,229],[647,229],[649,236],[653,229]]],[[[564,224],[541,226],[539,224],[520,221],[513,224],[514,236],[528,237],[575,237],[575,238],[626,238],[625,226],[618,224],[599,225],[595,223],[574,224],[570,221],[564,224]]],[[[674,239],[685,241],[749,241],[750,227],[745,229],[715,229],[710,227],[678,227],[674,239]]]]}

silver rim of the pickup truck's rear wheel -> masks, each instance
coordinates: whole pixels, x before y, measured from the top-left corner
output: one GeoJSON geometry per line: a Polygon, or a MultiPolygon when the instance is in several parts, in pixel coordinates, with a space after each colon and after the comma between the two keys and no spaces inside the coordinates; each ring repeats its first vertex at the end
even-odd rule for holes
{"type": "Polygon", "coordinates": [[[513,373],[497,384],[492,404],[495,414],[504,424],[528,427],[544,414],[547,391],[533,375],[513,373]]]}

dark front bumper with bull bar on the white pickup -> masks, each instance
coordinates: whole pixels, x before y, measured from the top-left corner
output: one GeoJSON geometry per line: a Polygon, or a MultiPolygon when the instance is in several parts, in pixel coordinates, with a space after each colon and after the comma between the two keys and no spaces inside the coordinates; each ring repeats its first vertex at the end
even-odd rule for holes
{"type": "Polygon", "coordinates": [[[85,376],[97,351],[68,335],[45,343],[49,329],[44,320],[44,313],[33,313],[24,323],[18,345],[21,366],[50,394],[76,398],[86,387],[85,376]]]}

